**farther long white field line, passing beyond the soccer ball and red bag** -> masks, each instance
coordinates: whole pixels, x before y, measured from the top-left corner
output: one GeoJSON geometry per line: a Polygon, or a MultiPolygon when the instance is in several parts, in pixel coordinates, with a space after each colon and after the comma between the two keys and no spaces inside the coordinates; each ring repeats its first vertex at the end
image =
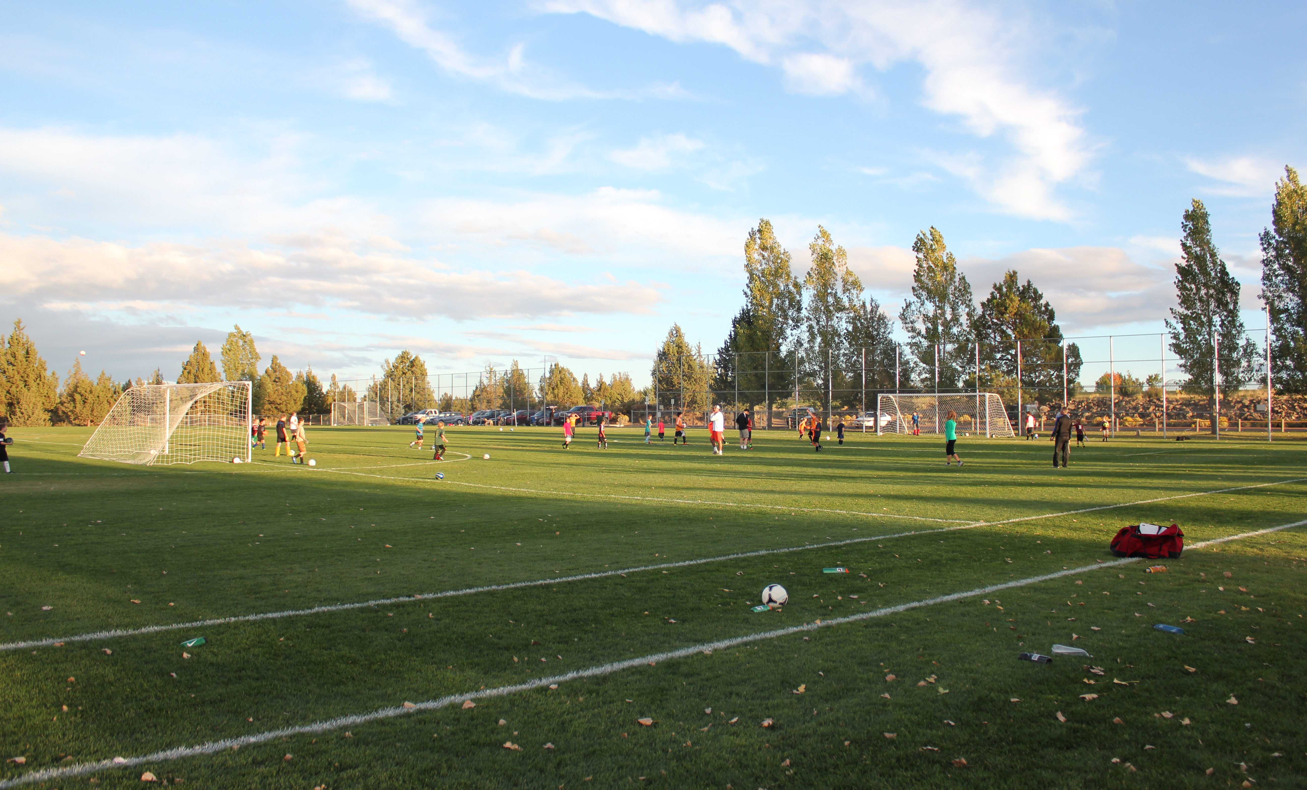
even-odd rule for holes
{"type": "MultiPolygon", "coordinates": [[[[1107,511],[1107,509],[1112,509],[1112,508],[1127,508],[1127,507],[1131,507],[1131,505],[1150,504],[1150,503],[1157,503],[1157,501],[1167,501],[1167,500],[1171,500],[1171,499],[1185,499],[1185,498],[1191,498],[1191,496],[1206,496],[1209,494],[1227,494],[1230,491],[1243,491],[1243,490],[1247,490],[1247,488],[1263,488],[1263,487],[1266,487],[1266,486],[1282,486],[1285,483],[1297,483],[1297,482],[1302,482],[1304,479],[1307,479],[1307,478],[1298,478],[1298,479],[1293,479],[1293,481],[1280,481],[1280,482],[1276,482],[1276,483],[1256,483],[1253,486],[1240,486],[1238,488],[1219,488],[1217,491],[1199,491],[1196,494],[1178,494],[1175,496],[1163,496],[1163,498],[1159,498],[1159,499],[1144,499],[1144,500],[1140,500],[1140,501],[1128,501],[1128,503],[1121,503],[1121,504],[1116,504],[1116,505],[1099,505],[1097,508],[1085,508],[1085,509],[1081,509],[1081,511],[1067,511],[1067,512],[1063,512],[1063,513],[1047,513],[1047,514],[1043,514],[1043,516],[1021,516],[1018,518],[1006,518],[1004,521],[976,521],[976,522],[972,522],[972,524],[961,524],[961,525],[957,525],[957,526],[944,526],[944,528],[940,528],[940,529],[911,530],[911,531],[906,531],[906,533],[894,533],[894,534],[889,534],[889,535],[869,535],[869,537],[865,537],[865,538],[848,538],[846,541],[831,541],[829,543],[812,543],[812,545],[808,545],[808,546],[791,546],[791,547],[787,547],[787,548],[759,548],[757,551],[741,551],[741,552],[737,552],[737,554],[724,554],[724,555],[720,555],[720,556],[701,558],[701,559],[694,559],[694,560],[680,560],[680,561],[676,561],[676,563],[659,563],[656,565],[639,565],[639,567],[635,567],[635,568],[622,568],[622,569],[618,569],[618,571],[596,571],[596,572],[592,572],[592,573],[578,573],[578,575],[574,575],[574,576],[555,576],[554,578],[536,578],[536,580],[531,580],[531,581],[514,581],[514,582],[508,582],[508,584],[493,584],[493,585],[485,585],[485,586],[478,586],[478,588],[464,588],[464,589],[460,589],[460,590],[444,590],[444,592],[440,592],[440,593],[416,593],[413,595],[403,595],[403,597],[396,597],[396,598],[376,598],[376,599],[372,599],[372,601],[361,601],[361,602],[357,602],[357,603],[335,603],[335,605],[327,605],[327,606],[314,606],[311,608],[291,608],[291,610],[285,610],[285,611],[257,612],[257,614],[252,614],[252,615],[233,615],[233,616],[229,616],[229,618],[213,618],[213,619],[209,619],[209,620],[193,620],[191,623],[167,623],[167,624],[163,624],[163,625],[145,625],[144,628],[118,628],[118,629],[114,629],[114,631],[97,631],[97,632],[93,632],[93,633],[78,633],[76,636],[61,636],[61,637],[30,640],[30,641],[21,641],[21,642],[4,642],[4,644],[0,644],[0,653],[3,653],[5,650],[25,650],[25,649],[30,649],[30,648],[48,648],[48,646],[51,646],[51,645],[54,645],[56,642],[86,642],[86,641],[115,639],[115,637],[141,636],[141,635],[145,635],[145,633],[161,633],[161,632],[166,632],[166,631],[180,631],[180,629],[187,629],[187,628],[207,628],[207,627],[210,627],[210,625],[227,625],[227,624],[231,624],[231,623],[256,623],[259,620],[280,620],[282,618],[298,618],[298,616],[303,616],[303,615],[315,615],[315,614],[323,614],[323,612],[349,611],[349,610],[354,610],[354,608],[366,608],[369,606],[388,606],[388,605],[405,603],[405,602],[412,602],[412,601],[431,601],[434,598],[454,598],[454,597],[457,597],[457,595],[472,595],[472,594],[476,594],[476,593],[493,593],[493,592],[498,592],[498,590],[518,590],[518,589],[521,589],[521,588],[535,588],[535,586],[544,586],[544,585],[549,585],[549,584],[566,584],[566,582],[571,582],[571,581],[586,581],[586,580],[591,580],[591,578],[608,578],[610,576],[623,576],[626,573],[639,573],[639,572],[643,572],[643,571],[661,571],[664,568],[689,568],[689,567],[693,567],[693,565],[703,565],[703,564],[707,564],[707,563],[721,563],[721,561],[727,561],[727,560],[746,559],[746,558],[753,558],[753,556],[769,556],[769,555],[772,555],[772,554],[789,554],[789,552],[793,552],[793,551],[808,551],[810,548],[833,548],[833,547],[838,547],[838,546],[851,546],[851,545],[855,545],[855,543],[869,543],[872,541],[889,541],[889,539],[893,539],[893,538],[907,538],[907,537],[911,537],[911,535],[932,535],[932,534],[938,534],[938,533],[957,531],[957,530],[962,530],[962,529],[974,529],[976,526],[1001,526],[1004,524],[1016,524],[1018,521],[1033,521],[1033,520],[1036,520],[1036,518],[1053,518],[1056,516],[1072,516],[1072,514],[1076,514],[1076,513],[1087,513],[1087,512],[1091,512],[1091,511],[1107,511]]],[[[1297,526],[1297,525],[1290,525],[1290,526],[1297,526]]],[[[1276,528],[1276,529],[1281,529],[1281,528],[1276,528]]],[[[1255,534],[1255,533],[1247,533],[1247,534],[1255,534]]],[[[1260,534],[1260,533],[1256,533],[1256,534],[1260,534]]],[[[1221,538],[1221,539],[1226,539],[1226,538],[1221,538]]],[[[1216,542],[1219,542],[1221,539],[1218,539],[1216,542]]],[[[1233,538],[1230,538],[1230,539],[1233,539],[1233,538]]],[[[1213,541],[1208,541],[1206,543],[1212,543],[1212,542],[1213,541]]],[[[1206,543],[1195,543],[1192,547],[1205,546],[1206,543]]]]}

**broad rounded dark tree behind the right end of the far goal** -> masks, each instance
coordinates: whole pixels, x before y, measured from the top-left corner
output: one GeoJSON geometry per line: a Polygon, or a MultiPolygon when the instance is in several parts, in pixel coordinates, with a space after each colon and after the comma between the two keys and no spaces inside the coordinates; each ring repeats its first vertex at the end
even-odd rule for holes
{"type": "MultiPolygon", "coordinates": [[[[980,387],[1000,388],[1004,397],[1016,396],[1019,340],[1022,398],[1061,401],[1063,333],[1056,321],[1056,311],[1033,282],[1022,285],[1016,270],[1004,274],[972,320],[980,342],[980,387]]],[[[1068,343],[1067,380],[1078,380],[1080,368],[1080,346],[1068,343]]],[[[974,371],[968,379],[975,383],[974,371]]]]}

